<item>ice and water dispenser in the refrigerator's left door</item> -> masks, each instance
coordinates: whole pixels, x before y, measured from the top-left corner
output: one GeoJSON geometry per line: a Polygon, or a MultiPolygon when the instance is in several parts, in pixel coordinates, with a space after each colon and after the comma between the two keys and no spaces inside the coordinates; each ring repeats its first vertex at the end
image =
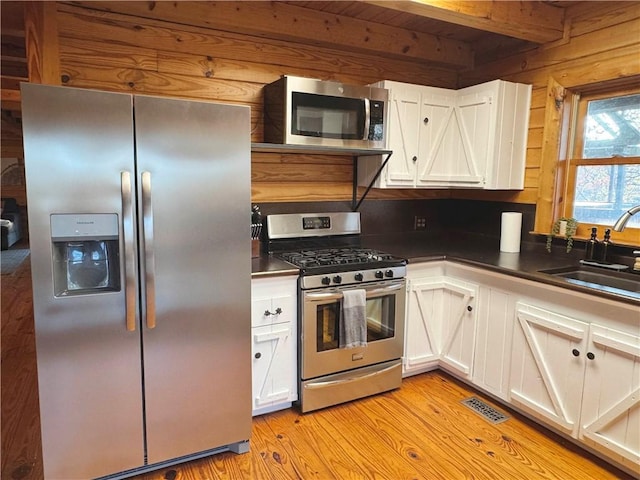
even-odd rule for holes
{"type": "Polygon", "coordinates": [[[117,214],[53,214],[51,242],[56,297],[120,290],[117,214]]]}

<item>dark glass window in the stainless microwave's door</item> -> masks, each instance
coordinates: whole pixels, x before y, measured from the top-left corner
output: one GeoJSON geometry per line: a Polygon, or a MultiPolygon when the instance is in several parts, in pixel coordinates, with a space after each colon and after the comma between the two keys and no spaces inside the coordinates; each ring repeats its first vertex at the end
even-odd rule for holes
{"type": "Polygon", "coordinates": [[[359,98],[293,92],[291,134],[358,140],[364,137],[365,103],[359,98]]]}

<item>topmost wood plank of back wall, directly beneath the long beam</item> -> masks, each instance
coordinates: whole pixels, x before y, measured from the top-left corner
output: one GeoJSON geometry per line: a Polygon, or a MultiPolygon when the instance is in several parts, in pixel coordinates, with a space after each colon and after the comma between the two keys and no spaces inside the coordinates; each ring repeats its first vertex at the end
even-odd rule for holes
{"type": "MultiPolygon", "coordinates": [[[[388,72],[394,72],[392,80],[409,82],[419,79],[425,85],[445,88],[456,85],[454,71],[437,67],[425,69],[420,62],[381,59],[371,54],[341,52],[281,40],[264,40],[258,44],[250,37],[237,33],[168,25],[159,20],[86,10],[76,6],[60,5],[58,21],[64,66],[72,65],[69,63],[71,59],[66,56],[68,51],[64,44],[78,47],[80,43],[90,40],[104,44],[102,55],[107,57],[111,51],[110,45],[116,44],[156,50],[159,59],[164,54],[174,53],[202,55],[223,63],[242,63],[245,67],[251,63],[252,70],[259,68],[256,65],[268,65],[268,68],[273,69],[274,75],[278,76],[284,73],[300,74],[359,85],[387,78],[388,72]],[[336,71],[336,59],[339,59],[339,72],[336,71]]],[[[114,59],[106,60],[107,63],[111,61],[114,59]]],[[[98,64],[102,63],[103,60],[98,61],[98,64]]],[[[213,77],[217,77],[216,72],[213,77]]],[[[223,74],[223,78],[226,75],[223,74]]],[[[258,75],[253,81],[269,83],[274,79],[275,77],[267,81],[267,78],[258,75]]]]}

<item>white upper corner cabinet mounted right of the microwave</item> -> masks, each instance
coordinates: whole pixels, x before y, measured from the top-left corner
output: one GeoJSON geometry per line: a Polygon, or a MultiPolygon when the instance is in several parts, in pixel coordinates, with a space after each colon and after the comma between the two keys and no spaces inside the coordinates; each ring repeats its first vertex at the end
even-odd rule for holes
{"type": "MultiPolygon", "coordinates": [[[[387,149],[376,188],[522,190],[531,85],[495,80],[449,90],[385,80],[387,149]]],[[[363,159],[368,185],[380,164],[363,159]]]]}

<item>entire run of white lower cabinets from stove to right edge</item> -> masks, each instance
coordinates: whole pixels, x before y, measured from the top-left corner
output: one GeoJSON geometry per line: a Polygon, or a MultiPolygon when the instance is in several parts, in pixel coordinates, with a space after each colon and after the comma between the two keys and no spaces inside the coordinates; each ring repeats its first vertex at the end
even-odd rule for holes
{"type": "Polygon", "coordinates": [[[442,367],[640,476],[637,306],[456,262],[407,270],[405,376],[442,367]]]}

